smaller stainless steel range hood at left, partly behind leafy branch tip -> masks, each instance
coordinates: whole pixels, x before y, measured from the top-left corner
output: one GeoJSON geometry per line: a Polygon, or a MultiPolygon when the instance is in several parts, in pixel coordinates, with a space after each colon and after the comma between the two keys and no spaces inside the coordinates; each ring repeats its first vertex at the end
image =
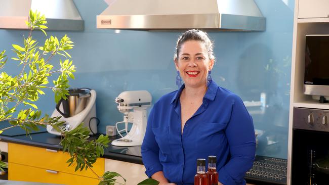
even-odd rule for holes
{"type": "Polygon", "coordinates": [[[28,29],[30,9],[46,16],[49,30],[84,30],[73,0],[0,0],[0,29],[28,29]]]}

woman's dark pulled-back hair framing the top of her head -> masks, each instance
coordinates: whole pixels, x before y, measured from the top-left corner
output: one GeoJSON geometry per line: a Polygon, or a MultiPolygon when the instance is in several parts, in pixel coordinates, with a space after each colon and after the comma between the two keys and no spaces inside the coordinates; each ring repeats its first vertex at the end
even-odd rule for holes
{"type": "Polygon", "coordinates": [[[204,43],[205,48],[208,50],[208,55],[210,59],[215,59],[213,52],[213,41],[209,38],[208,34],[204,31],[198,29],[190,29],[185,31],[182,35],[178,37],[176,44],[176,53],[174,55],[174,60],[177,59],[178,54],[181,50],[182,44],[189,40],[197,40],[204,43]]]}

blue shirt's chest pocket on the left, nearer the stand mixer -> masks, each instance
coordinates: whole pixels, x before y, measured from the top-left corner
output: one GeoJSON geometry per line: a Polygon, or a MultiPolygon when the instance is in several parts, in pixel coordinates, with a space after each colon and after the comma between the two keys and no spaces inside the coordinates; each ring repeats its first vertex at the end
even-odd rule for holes
{"type": "MultiPolygon", "coordinates": [[[[155,141],[159,146],[160,152],[162,154],[170,154],[170,147],[169,147],[169,126],[166,127],[153,127],[152,131],[155,136],[155,141]]],[[[167,156],[167,155],[165,155],[167,156]]]]}

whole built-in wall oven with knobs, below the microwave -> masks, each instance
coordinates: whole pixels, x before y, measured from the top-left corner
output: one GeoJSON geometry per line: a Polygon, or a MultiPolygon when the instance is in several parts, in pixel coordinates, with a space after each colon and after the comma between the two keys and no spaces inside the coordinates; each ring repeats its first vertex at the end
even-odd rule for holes
{"type": "Polygon", "coordinates": [[[294,108],[292,185],[329,185],[329,110],[294,108]]]}

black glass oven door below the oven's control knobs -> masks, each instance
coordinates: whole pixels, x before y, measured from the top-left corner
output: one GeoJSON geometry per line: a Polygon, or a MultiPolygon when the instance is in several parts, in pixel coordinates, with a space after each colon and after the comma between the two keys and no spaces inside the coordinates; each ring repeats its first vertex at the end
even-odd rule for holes
{"type": "Polygon", "coordinates": [[[292,185],[329,184],[329,132],[293,130],[292,185]]]}

